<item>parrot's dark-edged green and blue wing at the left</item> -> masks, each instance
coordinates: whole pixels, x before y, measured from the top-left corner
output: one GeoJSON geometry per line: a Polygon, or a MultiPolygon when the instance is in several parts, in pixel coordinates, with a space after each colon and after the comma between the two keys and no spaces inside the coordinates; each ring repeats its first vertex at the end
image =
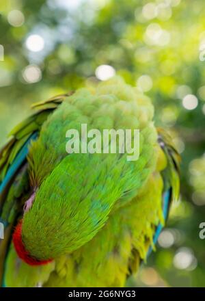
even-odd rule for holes
{"type": "Polygon", "coordinates": [[[25,196],[29,193],[29,145],[38,138],[42,124],[49,114],[70,94],[59,95],[33,105],[38,111],[12,130],[12,139],[0,151],[0,226],[3,228],[3,233],[0,233],[0,284],[12,228],[23,209],[25,196]]]}

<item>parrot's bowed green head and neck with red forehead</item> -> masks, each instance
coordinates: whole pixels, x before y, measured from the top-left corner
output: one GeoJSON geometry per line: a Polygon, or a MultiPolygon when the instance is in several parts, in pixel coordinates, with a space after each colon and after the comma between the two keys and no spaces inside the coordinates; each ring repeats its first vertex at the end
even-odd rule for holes
{"type": "Polygon", "coordinates": [[[146,96],[115,80],[95,92],[77,91],[44,122],[29,150],[30,177],[37,185],[13,236],[21,259],[36,265],[74,252],[98,233],[113,208],[137,194],[156,164],[152,116],[146,96]],[[140,129],[139,159],[128,161],[118,152],[65,155],[66,131],[86,122],[101,133],[140,129]]]}

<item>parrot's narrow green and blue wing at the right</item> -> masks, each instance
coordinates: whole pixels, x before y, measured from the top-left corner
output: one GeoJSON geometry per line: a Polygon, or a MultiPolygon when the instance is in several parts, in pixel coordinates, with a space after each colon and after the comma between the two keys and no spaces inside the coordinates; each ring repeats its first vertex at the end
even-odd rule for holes
{"type": "MultiPolygon", "coordinates": [[[[170,205],[172,204],[172,201],[178,200],[180,195],[180,155],[174,147],[172,138],[169,136],[169,134],[161,128],[158,128],[157,131],[159,145],[161,146],[167,159],[167,166],[161,171],[164,183],[162,195],[163,218],[165,221],[167,221],[170,205]]],[[[162,228],[163,224],[161,223],[156,226],[153,237],[154,244],[156,244],[162,228]]],[[[148,256],[151,252],[152,247],[150,246],[148,250],[148,256]]]]}

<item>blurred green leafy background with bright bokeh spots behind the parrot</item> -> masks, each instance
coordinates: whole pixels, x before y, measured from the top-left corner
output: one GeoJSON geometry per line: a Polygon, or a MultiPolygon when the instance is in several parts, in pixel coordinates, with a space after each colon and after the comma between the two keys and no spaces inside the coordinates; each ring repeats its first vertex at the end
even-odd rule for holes
{"type": "Polygon", "coordinates": [[[0,145],[35,101],[115,73],[138,86],[182,155],[182,195],[128,286],[205,287],[204,0],[1,0],[0,12],[0,145]]]}

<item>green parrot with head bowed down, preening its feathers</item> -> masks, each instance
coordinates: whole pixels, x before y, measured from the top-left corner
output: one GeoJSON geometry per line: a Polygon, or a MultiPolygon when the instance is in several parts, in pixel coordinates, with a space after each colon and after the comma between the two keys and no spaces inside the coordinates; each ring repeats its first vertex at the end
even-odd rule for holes
{"type": "Polygon", "coordinates": [[[154,127],[148,96],[120,77],[34,107],[0,153],[1,286],[123,287],[178,199],[172,140],[154,127]],[[66,132],[82,135],[82,124],[139,129],[139,158],[68,154],[66,132]]]}

